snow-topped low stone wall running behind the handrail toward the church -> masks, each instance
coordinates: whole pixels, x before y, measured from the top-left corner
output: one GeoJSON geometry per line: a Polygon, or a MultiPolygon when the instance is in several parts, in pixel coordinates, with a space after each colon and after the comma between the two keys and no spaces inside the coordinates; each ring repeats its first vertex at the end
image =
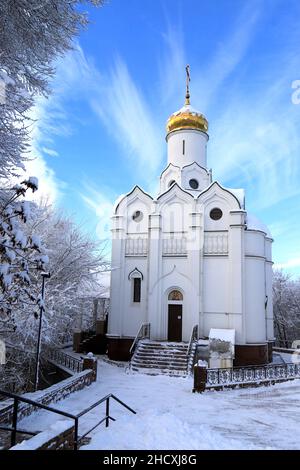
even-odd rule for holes
{"type": "MultiPolygon", "coordinates": [[[[95,370],[87,369],[79,374],[73,375],[68,379],[63,380],[51,387],[34,393],[25,393],[22,395],[24,398],[35,400],[42,405],[49,405],[50,403],[56,403],[59,400],[63,400],[68,395],[78,390],[82,390],[84,387],[90,385],[95,381],[95,370]]],[[[13,411],[13,400],[5,400],[0,402],[0,423],[10,422],[12,419],[13,411]]],[[[19,404],[18,418],[24,418],[35,411],[33,405],[27,403],[19,404]]]]}

